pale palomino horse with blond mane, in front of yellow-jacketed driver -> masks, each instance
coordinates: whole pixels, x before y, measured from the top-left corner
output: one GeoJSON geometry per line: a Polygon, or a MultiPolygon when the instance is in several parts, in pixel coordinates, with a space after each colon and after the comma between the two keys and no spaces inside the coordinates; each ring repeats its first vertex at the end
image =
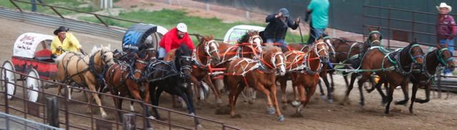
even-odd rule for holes
{"type": "MultiPolygon", "coordinates": [[[[99,77],[103,78],[102,73],[105,67],[114,64],[113,53],[110,51],[109,46],[101,46],[100,48],[94,46],[91,54],[86,56],[76,53],[64,53],[56,58],[56,63],[59,81],[64,83],[76,82],[78,85],[87,86],[92,91],[91,94],[96,104],[101,106],[101,100],[96,92],[97,87],[104,82],[100,82],[99,77]]],[[[61,93],[61,88],[59,86],[58,95],[61,93]]],[[[88,102],[91,102],[91,100],[88,102]]],[[[107,114],[102,107],[100,107],[100,112],[101,117],[106,118],[107,114]]]]}

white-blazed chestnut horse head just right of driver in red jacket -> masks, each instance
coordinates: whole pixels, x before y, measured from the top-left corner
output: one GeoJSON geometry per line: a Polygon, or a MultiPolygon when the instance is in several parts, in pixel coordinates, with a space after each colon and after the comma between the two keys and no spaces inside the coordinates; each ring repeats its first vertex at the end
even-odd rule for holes
{"type": "MultiPolygon", "coordinates": [[[[204,54],[206,56],[211,57],[212,60],[214,60],[216,63],[219,63],[221,61],[221,56],[219,55],[219,43],[214,40],[214,36],[204,36],[201,38],[201,43],[199,44],[199,48],[204,48],[204,54]]],[[[197,51],[202,51],[202,50],[197,50],[197,51]]],[[[203,53],[203,52],[198,52],[203,53]]],[[[195,55],[195,56],[200,56],[200,55],[195,55]]],[[[200,58],[201,59],[201,58],[200,58]]]]}

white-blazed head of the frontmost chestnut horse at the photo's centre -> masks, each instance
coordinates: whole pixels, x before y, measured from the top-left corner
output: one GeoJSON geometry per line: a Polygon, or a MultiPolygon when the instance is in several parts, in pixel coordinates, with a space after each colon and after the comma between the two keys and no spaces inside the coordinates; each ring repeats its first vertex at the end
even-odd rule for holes
{"type": "Polygon", "coordinates": [[[261,58],[264,63],[268,64],[268,67],[276,69],[279,75],[283,76],[286,74],[286,56],[284,56],[281,48],[268,45],[263,51],[261,58]]]}

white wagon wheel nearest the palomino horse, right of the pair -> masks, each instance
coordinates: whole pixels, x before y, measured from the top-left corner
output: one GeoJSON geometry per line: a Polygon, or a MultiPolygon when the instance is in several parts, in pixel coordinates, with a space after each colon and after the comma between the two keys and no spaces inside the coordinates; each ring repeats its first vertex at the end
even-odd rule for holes
{"type": "Polygon", "coordinates": [[[39,92],[41,90],[41,81],[38,80],[39,74],[35,69],[32,69],[29,72],[28,77],[26,77],[26,86],[28,89],[26,90],[26,98],[29,99],[30,102],[38,102],[39,100],[39,92]]]}

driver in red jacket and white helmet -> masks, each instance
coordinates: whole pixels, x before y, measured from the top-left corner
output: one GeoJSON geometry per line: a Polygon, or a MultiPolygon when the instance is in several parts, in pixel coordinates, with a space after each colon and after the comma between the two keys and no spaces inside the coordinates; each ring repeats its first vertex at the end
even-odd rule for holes
{"type": "Polygon", "coordinates": [[[179,48],[181,44],[186,44],[191,50],[195,48],[194,43],[192,43],[187,33],[187,26],[184,23],[178,23],[176,28],[165,33],[159,43],[159,58],[165,58],[166,53],[172,49],[179,48]]]}

